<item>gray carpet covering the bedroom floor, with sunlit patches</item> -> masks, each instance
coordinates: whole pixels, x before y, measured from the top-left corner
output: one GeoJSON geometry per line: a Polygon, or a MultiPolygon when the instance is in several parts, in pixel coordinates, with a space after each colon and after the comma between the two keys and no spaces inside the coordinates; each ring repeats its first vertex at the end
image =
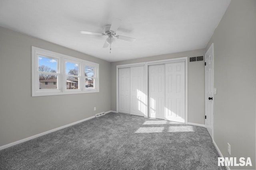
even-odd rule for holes
{"type": "Polygon", "coordinates": [[[0,151],[0,169],[218,170],[204,127],[120,113],[0,151]]]}

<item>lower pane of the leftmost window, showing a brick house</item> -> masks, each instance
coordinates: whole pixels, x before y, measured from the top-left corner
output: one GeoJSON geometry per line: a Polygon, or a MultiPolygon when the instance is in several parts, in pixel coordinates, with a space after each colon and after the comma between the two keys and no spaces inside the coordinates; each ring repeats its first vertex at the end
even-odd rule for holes
{"type": "Polygon", "coordinates": [[[57,76],[52,74],[39,74],[39,89],[57,89],[57,76]]]}

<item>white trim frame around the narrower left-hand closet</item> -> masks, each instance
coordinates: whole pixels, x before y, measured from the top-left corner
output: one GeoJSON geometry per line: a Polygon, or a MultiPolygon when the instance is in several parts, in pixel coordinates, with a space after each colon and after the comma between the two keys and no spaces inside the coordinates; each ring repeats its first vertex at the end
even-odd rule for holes
{"type": "MultiPolygon", "coordinates": [[[[123,65],[117,65],[116,66],[116,112],[118,113],[119,111],[119,72],[118,69],[119,68],[129,68],[129,67],[137,67],[137,66],[144,66],[144,89],[146,90],[146,62],[145,63],[134,63],[134,64],[123,64],[123,65]]],[[[146,91],[145,91],[146,94],[146,91]]],[[[147,96],[144,97],[145,98],[145,102],[147,102],[146,100],[148,100],[147,96]]],[[[146,113],[144,113],[144,117],[148,117],[147,114],[147,103],[145,106],[145,111],[146,113]]]]}

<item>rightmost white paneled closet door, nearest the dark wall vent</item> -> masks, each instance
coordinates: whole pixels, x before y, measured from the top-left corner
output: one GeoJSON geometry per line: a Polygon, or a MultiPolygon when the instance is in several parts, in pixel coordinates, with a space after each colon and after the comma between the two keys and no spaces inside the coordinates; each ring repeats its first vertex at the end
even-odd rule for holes
{"type": "Polygon", "coordinates": [[[165,64],[165,118],[185,123],[185,62],[165,64]]]}

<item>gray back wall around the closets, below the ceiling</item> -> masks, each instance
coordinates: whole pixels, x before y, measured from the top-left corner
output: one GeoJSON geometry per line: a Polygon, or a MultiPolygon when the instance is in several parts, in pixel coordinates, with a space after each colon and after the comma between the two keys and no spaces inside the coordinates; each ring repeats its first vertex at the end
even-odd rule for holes
{"type": "MultiPolygon", "coordinates": [[[[116,111],[116,66],[204,55],[205,49],[111,63],[111,110],[116,111]]],[[[188,62],[188,122],[204,124],[204,61],[188,62]]]]}

